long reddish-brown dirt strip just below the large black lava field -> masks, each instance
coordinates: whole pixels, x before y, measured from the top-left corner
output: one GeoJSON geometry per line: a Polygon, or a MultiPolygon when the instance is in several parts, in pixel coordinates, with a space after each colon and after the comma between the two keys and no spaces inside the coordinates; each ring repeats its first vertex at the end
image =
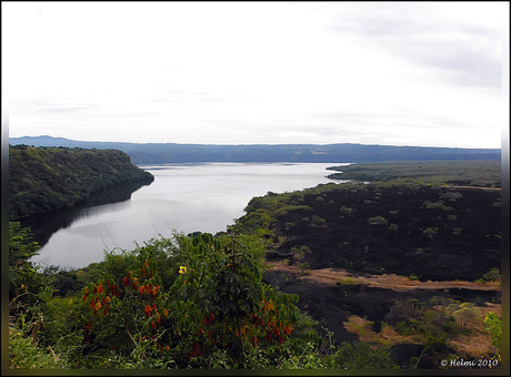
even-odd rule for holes
{"type": "Polygon", "coordinates": [[[300,278],[315,283],[325,284],[350,284],[350,285],[368,285],[373,287],[388,288],[393,291],[411,291],[411,289],[477,289],[477,291],[500,291],[498,282],[474,283],[474,282],[419,282],[410,281],[408,277],[394,274],[384,275],[353,275],[344,269],[320,268],[308,269],[307,275],[301,275],[301,271],[297,266],[288,266],[283,262],[265,262],[265,265],[271,271],[280,271],[298,275],[300,278]]]}

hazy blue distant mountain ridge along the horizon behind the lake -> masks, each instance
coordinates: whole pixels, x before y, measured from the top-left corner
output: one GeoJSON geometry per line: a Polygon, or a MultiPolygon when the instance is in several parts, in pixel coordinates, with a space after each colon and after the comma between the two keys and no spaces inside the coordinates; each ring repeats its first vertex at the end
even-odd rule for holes
{"type": "Polygon", "coordinates": [[[459,149],[365,144],[177,144],[89,142],[52,136],[10,137],[11,145],[114,149],[134,164],[187,162],[377,162],[428,160],[500,160],[500,149],[459,149]]]}

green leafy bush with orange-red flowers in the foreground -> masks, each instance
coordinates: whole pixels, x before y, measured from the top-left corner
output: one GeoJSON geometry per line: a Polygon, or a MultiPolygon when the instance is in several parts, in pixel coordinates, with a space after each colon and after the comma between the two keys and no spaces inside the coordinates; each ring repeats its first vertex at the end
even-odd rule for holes
{"type": "Polygon", "coordinates": [[[250,243],[210,234],[180,242],[179,271],[168,289],[150,247],[139,251],[138,266],[120,282],[104,276],[83,289],[96,318],[87,328],[89,342],[94,323],[100,328],[106,320],[119,329],[109,337],[120,343],[112,348],[177,367],[209,367],[219,350],[230,355],[232,365],[246,365],[251,349],[285,342],[300,315],[293,305],[298,296],[262,283],[261,258],[250,243]]]}

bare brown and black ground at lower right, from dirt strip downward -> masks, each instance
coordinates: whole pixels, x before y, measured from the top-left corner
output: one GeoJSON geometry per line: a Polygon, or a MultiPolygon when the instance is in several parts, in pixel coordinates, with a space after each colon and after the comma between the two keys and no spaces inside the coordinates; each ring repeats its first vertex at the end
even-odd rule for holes
{"type": "MultiPolygon", "coordinates": [[[[471,334],[453,336],[445,345],[450,353],[479,358],[495,351],[484,330],[482,319],[493,312],[501,315],[500,284],[468,281],[419,282],[395,274],[371,275],[341,268],[302,271],[284,261],[267,262],[265,275],[282,292],[298,294],[302,310],[319,320],[318,330],[333,332],[335,343],[344,340],[389,345],[392,357],[403,367],[411,357],[422,354],[427,339],[420,335],[402,335],[385,325],[385,314],[392,304],[408,298],[428,302],[442,296],[461,302],[472,302],[479,317],[470,325],[471,334]],[[325,327],[322,327],[325,326],[325,327]]],[[[438,360],[424,358],[421,368],[438,368],[438,360]]]]}

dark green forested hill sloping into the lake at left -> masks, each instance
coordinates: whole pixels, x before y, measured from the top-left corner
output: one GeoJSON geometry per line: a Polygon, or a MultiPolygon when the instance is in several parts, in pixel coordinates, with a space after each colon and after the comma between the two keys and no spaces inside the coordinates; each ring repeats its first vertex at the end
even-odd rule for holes
{"type": "Polygon", "coordinates": [[[152,174],[122,151],[9,145],[9,221],[51,212],[152,174]]]}

